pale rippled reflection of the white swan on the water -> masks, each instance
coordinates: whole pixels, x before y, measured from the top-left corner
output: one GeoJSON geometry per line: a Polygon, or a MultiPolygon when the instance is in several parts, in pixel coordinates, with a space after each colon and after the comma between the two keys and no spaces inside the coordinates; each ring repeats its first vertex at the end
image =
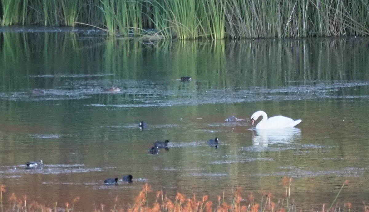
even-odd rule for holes
{"type": "Polygon", "coordinates": [[[301,140],[299,128],[288,129],[253,129],[252,146],[266,148],[268,144],[292,144],[301,140]]]}

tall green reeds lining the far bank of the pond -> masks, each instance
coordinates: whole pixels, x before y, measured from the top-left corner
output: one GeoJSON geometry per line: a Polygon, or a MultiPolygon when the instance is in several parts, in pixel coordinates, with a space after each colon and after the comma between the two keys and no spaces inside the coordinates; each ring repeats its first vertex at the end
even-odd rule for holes
{"type": "Polygon", "coordinates": [[[169,40],[366,36],[368,11],[367,0],[0,0],[0,25],[169,40]]]}

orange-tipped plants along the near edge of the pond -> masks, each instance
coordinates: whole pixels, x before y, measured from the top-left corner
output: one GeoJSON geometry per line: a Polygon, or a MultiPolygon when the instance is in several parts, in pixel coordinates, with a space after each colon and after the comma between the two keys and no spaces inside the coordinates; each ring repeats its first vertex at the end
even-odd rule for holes
{"type": "MultiPolygon", "coordinates": [[[[103,203],[101,203],[99,208],[93,209],[93,212],[104,212],[104,210],[111,212],[295,212],[297,211],[297,205],[295,205],[295,201],[290,196],[292,178],[284,177],[282,183],[284,194],[280,199],[275,198],[270,192],[263,194],[260,202],[255,201],[253,194],[248,195],[247,198],[242,198],[242,188],[238,187],[232,189],[232,197],[230,199],[225,197],[223,192],[223,195],[219,195],[217,203],[214,204],[208,200],[208,195],[196,199],[196,196],[186,197],[177,192],[175,199],[172,200],[163,194],[163,191],[158,191],[156,192],[155,202],[152,205],[149,204],[148,200],[148,193],[152,192],[152,189],[146,183],[142,186],[142,190],[135,198],[133,204],[128,206],[120,205],[117,196],[113,208],[104,208],[103,203]]],[[[337,198],[345,185],[348,185],[348,180],[342,184],[332,204],[329,207],[325,207],[328,205],[323,204],[320,212],[351,211],[352,205],[350,202],[344,202],[343,204],[337,202],[337,198]]],[[[10,197],[5,199],[5,192],[5,185],[0,185],[1,212],[73,212],[76,202],[79,201],[79,197],[76,197],[71,204],[66,202],[60,205],[60,203],[55,202],[53,206],[48,207],[37,202],[27,203],[28,197],[26,195],[18,198],[15,193],[12,193],[10,197]],[[8,205],[4,205],[4,202],[8,202],[8,205]]],[[[303,209],[300,210],[303,211],[303,209]]],[[[311,209],[311,211],[314,211],[314,209],[311,209]]],[[[369,211],[365,203],[363,211],[369,211]]]]}

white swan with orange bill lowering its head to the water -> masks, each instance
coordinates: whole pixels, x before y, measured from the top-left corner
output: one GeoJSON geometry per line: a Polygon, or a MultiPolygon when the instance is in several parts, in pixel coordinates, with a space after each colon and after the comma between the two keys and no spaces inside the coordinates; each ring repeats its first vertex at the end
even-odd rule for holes
{"type": "Polygon", "coordinates": [[[296,126],[297,124],[299,124],[301,122],[301,119],[298,119],[298,120],[294,121],[293,119],[290,119],[289,117],[286,117],[286,116],[273,116],[273,117],[270,117],[268,119],[268,115],[264,111],[259,110],[259,111],[256,111],[251,116],[252,125],[254,125],[254,122],[260,116],[262,116],[263,119],[261,120],[261,122],[259,122],[256,125],[256,127],[255,127],[256,129],[290,128],[290,127],[296,126]]]}

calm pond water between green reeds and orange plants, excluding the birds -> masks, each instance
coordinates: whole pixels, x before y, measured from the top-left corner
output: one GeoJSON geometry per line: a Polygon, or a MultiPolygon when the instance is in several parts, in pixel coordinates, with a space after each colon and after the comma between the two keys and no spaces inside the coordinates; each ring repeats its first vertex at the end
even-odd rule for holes
{"type": "MultiPolygon", "coordinates": [[[[369,39],[245,41],[113,40],[90,31],[0,34],[0,183],[78,211],[141,186],[173,197],[233,187],[243,197],[284,195],[292,177],[298,208],[338,199],[368,202],[369,39]],[[180,82],[191,76],[191,82],[180,82]],[[103,88],[117,86],[121,92],[103,88]],[[34,94],[32,89],[44,89],[34,94]],[[296,129],[256,131],[264,110],[302,119],[296,129]],[[239,120],[227,123],[235,115],[239,120]],[[148,127],[140,130],[138,123],[148,127]],[[207,145],[218,137],[219,148],[207,145]],[[156,140],[169,151],[149,154],[156,140]],[[44,161],[40,170],[25,162],[44,161]],[[132,174],[134,182],[105,186],[132,174]]],[[[151,195],[154,202],[155,192],[151,195]]],[[[327,207],[327,206],[326,206],[327,207]]]]}

